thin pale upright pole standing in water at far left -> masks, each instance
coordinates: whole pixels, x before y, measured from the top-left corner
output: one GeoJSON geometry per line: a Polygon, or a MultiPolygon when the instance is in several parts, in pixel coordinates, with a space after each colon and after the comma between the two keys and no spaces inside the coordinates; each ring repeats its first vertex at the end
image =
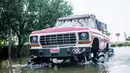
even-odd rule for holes
{"type": "Polygon", "coordinates": [[[11,43],[12,43],[12,40],[11,40],[11,34],[12,34],[12,31],[11,29],[9,29],[9,33],[8,33],[8,38],[9,38],[9,46],[8,46],[8,62],[9,62],[9,65],[8,67],[11,67],[12,64],[11,64],[11,43]]]}

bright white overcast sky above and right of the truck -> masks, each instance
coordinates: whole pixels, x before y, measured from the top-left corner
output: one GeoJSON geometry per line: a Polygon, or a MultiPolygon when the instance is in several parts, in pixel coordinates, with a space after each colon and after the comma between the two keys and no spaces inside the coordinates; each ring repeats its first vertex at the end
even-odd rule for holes
{"type": "Polygon", "coordinates": [[[74,15],[95,14],[96,17],[107,24],[108,31],[112,34],[110,39],[116,41],[115,34],[130,33],[130,0],[68,0],[74,7],[74,15]]]}

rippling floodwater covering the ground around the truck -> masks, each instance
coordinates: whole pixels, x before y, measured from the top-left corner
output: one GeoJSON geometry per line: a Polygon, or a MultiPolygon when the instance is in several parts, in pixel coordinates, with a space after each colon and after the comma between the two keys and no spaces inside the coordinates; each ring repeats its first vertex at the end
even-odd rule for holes
{"type": "Polygon", "coordinates": [[[25,67],[28,58],[21,58],[12,60],[12,68],[7,68],[7,60],[0,60],[0,73],[130,73],[130,47],[113,49],[115,56],[101,65],[63,64],[53,68],[36,69],[25,67]]]}

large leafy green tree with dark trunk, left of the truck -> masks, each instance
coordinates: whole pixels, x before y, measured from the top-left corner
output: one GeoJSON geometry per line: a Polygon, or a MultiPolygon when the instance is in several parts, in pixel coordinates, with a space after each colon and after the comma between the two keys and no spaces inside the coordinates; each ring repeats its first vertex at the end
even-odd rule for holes
{"type": "Polygon", "coordinates": [[[53,27],[57,18],[71,15],[72,9],[65,0],[1,0],[0,25],[5,31],[12,29],[18,38],[20,56],[32,31],[53,27]]]}

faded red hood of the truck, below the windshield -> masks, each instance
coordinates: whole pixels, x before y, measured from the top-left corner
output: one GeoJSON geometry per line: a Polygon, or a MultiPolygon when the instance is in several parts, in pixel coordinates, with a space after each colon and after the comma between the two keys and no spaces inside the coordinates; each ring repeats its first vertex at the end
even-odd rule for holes
{"type": "Polygon", "coordinates": [[[57,33],[57,32],[82,31],[82,30],[89,30],[89,29],[83,27],[54,27],[39,31],[33,31],[31,34],[57,33]]]}

